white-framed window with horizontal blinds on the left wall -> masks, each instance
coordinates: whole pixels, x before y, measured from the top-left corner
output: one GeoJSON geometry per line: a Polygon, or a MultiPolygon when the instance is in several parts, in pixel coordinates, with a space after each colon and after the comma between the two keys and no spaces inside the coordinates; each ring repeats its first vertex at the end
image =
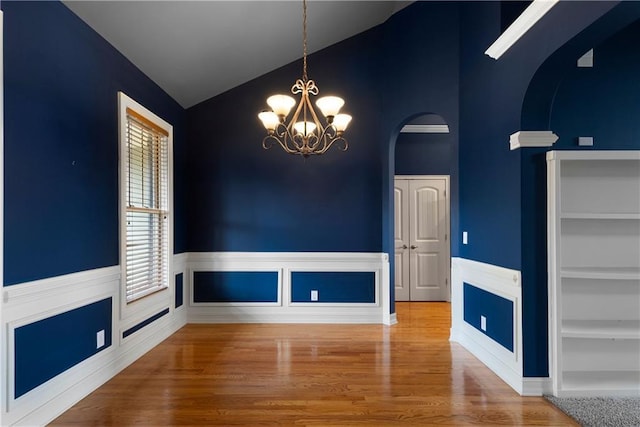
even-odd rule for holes
{"type": "Polygon", "coordinates": [[[120,135],[121,268],[130,303],[169,286],[172,127],[121,93],[120,135]]]}

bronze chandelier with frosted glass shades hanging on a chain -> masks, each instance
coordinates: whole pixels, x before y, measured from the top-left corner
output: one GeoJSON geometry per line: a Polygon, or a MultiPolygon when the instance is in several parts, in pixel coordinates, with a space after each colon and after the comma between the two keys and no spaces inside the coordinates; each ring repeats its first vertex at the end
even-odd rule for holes
{"type": "Polygon", "coordinates": [[[262,140],[264,149],[271,148],[275,143],[289,154],[309,157],[313,154],[324,154],[334,143],[346,151],[349,147],[344,139],[351,116],[339,114],[344,100],[337,96],[318,98],[316,106],[325,118],[323,125],[311,104],[310,96],[318,95],[318,86],[307,76],[307,2],[302,1],[302,78],[296,80],[291,87],[291,93],[300,94],[298,106],[287,123],[287,116],[296,105],[296,100],[288,95],[273,95],[267,98],[271,111],[263,111],[258,118],[267,129],[267,136],[262,140]]]}

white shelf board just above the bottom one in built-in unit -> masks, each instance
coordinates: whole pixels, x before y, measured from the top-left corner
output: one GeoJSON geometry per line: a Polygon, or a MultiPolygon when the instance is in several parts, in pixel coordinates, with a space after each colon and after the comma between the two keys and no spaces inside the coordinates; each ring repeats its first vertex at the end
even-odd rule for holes
{"type": "Polygon", "coordinates": [[[640,340],[640,320],[564,320],[563,338],[640,340]]]}

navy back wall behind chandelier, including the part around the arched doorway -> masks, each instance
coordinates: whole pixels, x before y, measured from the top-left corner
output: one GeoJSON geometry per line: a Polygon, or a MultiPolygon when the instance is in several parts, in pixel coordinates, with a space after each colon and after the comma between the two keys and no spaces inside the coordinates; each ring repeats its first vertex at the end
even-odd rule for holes
{"type": "MultiPolygon", "coordinates": [[[[289,90],[300,62],[190,108],[189,250],[393,253],[400,127],[420,113],[440,114],[457,157],[458,44],[458,5],[418,2],[312,55],[309,75],[321,95],[342,95],[354,117],[345,153],[305,161],[261,147],[254,114],[268,95],[289,90]]],[[[457,199],[452,217],[455,229],[457,199]]]]}

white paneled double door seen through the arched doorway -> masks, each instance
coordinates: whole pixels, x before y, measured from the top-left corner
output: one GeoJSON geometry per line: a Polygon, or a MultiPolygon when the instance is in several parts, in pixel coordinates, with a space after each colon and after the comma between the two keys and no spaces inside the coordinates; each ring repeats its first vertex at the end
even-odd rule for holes
{"type": "Polygon", "coordinates": [[[449,300],[449,177],[395,180],[397,301],[449,300]]]}

